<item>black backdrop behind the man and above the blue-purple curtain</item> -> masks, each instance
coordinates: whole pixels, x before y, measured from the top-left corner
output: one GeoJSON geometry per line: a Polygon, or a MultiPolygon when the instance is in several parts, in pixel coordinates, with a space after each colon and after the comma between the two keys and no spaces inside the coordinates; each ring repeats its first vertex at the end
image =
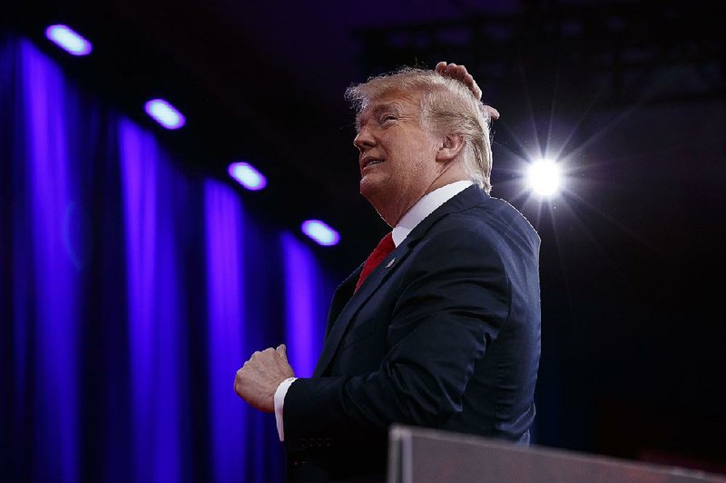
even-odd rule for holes
{"type": "Polygon", "coordinates": [[[358,194],[345,88],[401,64],[466,64],[494,123],[492,194],[542,244],[535,443],[726,472],[726,82],[718,4],[452,0],[31,2],[4,15],[64,70],[158,133],[188,169],[265,173],[245,202],[340,232],[351,271],[386,231],[358,194]],[[103,5],[97,5],[103,4],[103,5]],[[71,58],[59,22],[91,39],[71,58]],[[162,96],[187,116],[166,132],[162,96]],[[550,200],[526,163],[556,157],[550,200]]]}

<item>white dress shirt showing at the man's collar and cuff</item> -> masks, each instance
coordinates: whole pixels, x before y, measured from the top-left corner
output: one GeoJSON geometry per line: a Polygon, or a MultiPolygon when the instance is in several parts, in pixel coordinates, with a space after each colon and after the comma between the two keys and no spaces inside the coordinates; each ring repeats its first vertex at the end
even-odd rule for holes
{"type": "MultiPolygon", "coordinates": [[[[414,204],[410,210],[404,214],[398,221],[397,225],[393,228],[393,243],[398,246],[406,240],[408,233],[412,232],[416,228],[417,224],[423,222],[424,219],[431,213],[433,213],[439,206],[456,196],[459,192],[463,192],[474,184],[471,181],[460,181],[446,184],[441,188],[437,188],[433,192],[429,192],[427,195],[422,197],[414,204]]],[[[275,391],[275,419],[278,426],[278,435],[280,441],[285,440],[284,427],[282,425],[282,407],[285,403],[285,395],[288,393],[290,385],[297,378],[288,378],[280,382],[280,386],[275,391]]]]}

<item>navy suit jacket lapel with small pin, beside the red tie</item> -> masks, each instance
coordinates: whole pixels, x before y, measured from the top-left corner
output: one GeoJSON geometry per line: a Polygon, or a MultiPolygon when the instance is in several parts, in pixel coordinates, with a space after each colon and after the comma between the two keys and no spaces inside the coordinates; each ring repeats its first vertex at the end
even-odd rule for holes
{"type": "Polygon", "coordinates": [[[360,286],[357,292],[353,293],[353,290],[356,281],[358,281],[358,275],[363,269],[363,265],[360,265],[358,270],[351,273],[348,279],[338,286],[338,290],[336,290],[333,296],[333,301],[330,303],[326,340],[323,345],[323,350],[320,353],[318,364],[313,372],[313,377],[321,376],[328,369],[330,361],[338,350],[340,340],[345,335],[351,320],[355,318],[358,309],[378,290],[380,284],[391,273],[396,271],[401,261],[407,257],[411,248],[419,242],[428,230],[449,213],[466,210],[479,202],[484,202],[486,197],[488,195],[476,186],[466,188],[466,190],[458,193],[439,206],[437,210],[429,214],[422,222],[418,223],[417,227],[408,234],[406,240],[401,242],[394,251],[391,251],[388,257],[380,262],[376,270],[368,275],[368,279],[360,286]]]}

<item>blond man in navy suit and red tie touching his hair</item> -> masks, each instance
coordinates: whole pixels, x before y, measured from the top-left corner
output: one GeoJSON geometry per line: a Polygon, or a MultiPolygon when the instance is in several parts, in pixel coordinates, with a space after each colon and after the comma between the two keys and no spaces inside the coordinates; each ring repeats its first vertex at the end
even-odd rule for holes
{"type": "Polygon", "coordinates": [[[488,194],[498,113],[456,64],[347,94],[360,192],[392,232],[338,287],[313,377],[295,379],[281,345],[255,352],[235,390],[275,411],[294,481],[383,481],[392,423],[527,444],[540,240],[488,194]]]}

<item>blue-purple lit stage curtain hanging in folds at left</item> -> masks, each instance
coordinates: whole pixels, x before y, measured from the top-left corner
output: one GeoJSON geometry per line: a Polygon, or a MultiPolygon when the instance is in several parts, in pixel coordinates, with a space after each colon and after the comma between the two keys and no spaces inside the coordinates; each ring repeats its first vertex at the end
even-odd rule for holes
{"type": "Polygon", "coordinates": [[[309,375],[338,277],[30,41],[0,82],[0,479],[281,481],[234,375],[283,341],[309,375]]]}

